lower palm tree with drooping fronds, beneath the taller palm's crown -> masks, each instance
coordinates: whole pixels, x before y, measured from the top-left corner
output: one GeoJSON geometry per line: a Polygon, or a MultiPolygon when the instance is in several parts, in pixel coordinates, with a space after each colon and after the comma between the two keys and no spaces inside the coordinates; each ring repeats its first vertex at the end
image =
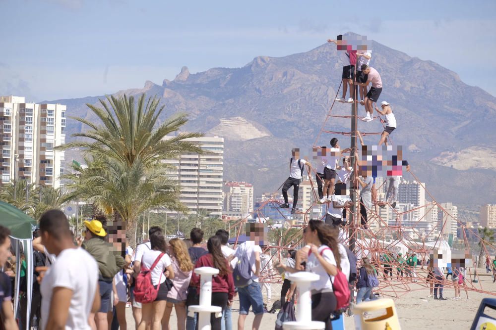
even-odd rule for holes
{"type": "Polygon", "coordinates": [[[136,220],[149,208],[160,206],[186,214],[186,206],[179,201],[179,186],[163,169],[146,169],[140,159],[131,166],[111,158],[87,161],[88,168],[73,164],[79,172],[64,175],[71,183],[66,185],[70,192],[63,200],[83,199],[105,216],[122,219],[127,238],[134,237],[136,220]]]}

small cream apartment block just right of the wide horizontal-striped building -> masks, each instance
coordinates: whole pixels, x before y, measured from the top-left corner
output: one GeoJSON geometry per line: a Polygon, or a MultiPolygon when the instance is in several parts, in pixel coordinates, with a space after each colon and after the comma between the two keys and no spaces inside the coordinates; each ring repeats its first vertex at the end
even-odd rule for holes
{"type": "Polygon", "coordinates": [[[229,181],[224,185],[224,210],[247,214],[253,212],[253,185],[229,181]]]}

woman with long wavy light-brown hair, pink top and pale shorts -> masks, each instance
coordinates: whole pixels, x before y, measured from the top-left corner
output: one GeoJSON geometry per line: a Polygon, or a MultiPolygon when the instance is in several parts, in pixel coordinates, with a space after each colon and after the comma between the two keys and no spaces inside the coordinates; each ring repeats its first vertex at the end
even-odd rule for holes
{"type": "Polygon", "coordinates": [[[193,263],[189,259],[184,240],[173,238],[169,241],[172,268],[174,269],[174,285],[167,293],[162,329],[169,329],[172,307],[176,308],[178,330],[186,329],[186,292],[193,272],[193,263]]]}

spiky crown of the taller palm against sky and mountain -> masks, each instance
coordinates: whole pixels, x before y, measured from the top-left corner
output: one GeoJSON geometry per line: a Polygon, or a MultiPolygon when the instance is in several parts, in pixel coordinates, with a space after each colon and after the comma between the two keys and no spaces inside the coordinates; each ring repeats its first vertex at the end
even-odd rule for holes
{"type": "Polygon", "coordinates": [[[100,119],[97,125],[84,118],[75,118],[89,127],[87,132],[72,134],[83,140],[72,141],[58,146],[59,150],[81,148],[95,157],[113,158],[127,166],[136,160],[146,168],[162,165],[162,160],[177,158],[185,152],[202,153],[202,149],[188,138],[203,136],[199,133],[179,133],[164,140],[171,133],[178,132],[187,123],[187,115],[179,113],[159,124],[158,117],[164,110],[159,109],[159,99],[141,94],[135,105],[133,96],[107,96],[107,102],[100,100],[103,108],[86,104],[100,119]],[[89,140],[89,141],[88,141],[89,140]]]}

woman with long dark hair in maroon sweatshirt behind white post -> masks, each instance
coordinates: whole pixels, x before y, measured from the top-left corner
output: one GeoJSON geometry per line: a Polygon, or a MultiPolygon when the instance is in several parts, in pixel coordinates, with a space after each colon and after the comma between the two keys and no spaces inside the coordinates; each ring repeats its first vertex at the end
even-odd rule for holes
{"type": "MultiPolygon", "coordinates": [[[[229,262],[222,254],[221,240],[218,236],[212,236],[208,239],[208,254],[198,258],[194,268],[213,267],[219,270],[219,274],[212,278],[212,306],[222,307],[231,306],[234,297],[234,280],[231,273],[229,262]]],[[[191,286],[196,286],[200,291],[200,277],[193,273],[191,276],[191,286]]],[[[216,318],[215,314],[210,315],[210,325],[212,330],[221,329],[221,318],[216,318]]]]}

